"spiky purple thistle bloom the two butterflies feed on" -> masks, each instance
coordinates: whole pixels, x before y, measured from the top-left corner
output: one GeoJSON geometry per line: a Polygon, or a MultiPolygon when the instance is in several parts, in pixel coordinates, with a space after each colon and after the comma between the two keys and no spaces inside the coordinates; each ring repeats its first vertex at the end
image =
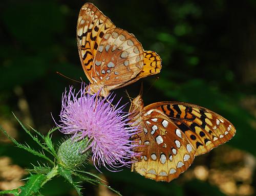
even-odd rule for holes
{"type": "Polygon", "coordinates": [[[91,148],[96,168],[96,163],[113,169],[130,164],[131,158],[138,156],[133,151],[138,143],[130,138],[139,128],[129,126],[129,114],[122,111],[125,105],[118,107],[120,100],[112,106],[114,96],[101,99],[98,94],[87,94],[83,84],[76,94],[70,87],[70,91],[62,95],[61,124],[57,126],[73,138],[88,137],[88,147],[83,152],[91,148]]]}

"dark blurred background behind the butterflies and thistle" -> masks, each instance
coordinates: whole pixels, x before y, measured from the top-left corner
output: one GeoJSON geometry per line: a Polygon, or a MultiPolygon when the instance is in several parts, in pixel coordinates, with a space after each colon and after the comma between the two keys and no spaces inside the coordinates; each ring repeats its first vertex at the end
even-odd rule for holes
{"type": "MultiPolygon", "coordinates": [[[[12,112],[41,133],[58,119],[62,92],[88,82],[76,46],[76,23],[83,1],[0,2],[0,125],[20,142],[33,143],[12,112]]],[[[170,183],[144,179],[124,168],[102,169],[101,177],[123,195],[256,195],[256,1],[92,1],[113,23],[133,33],[145,50],[162,58],[162,70],[120,90],[129,102],[143,81],[145,105],[184,101],[227,118],[237,134],[225,145],[196,157],[170,183]]],[[[129,107],[126,107],[128,110],[129,107]]],[[[63,137],[53,136],[56,145],[63,137]]],[[[0,189],[19,186],[32,155],[0,135],[0,189]]],[[[34,147],[36,148],[36,147],[34,147]]],[[[93,166],[87,170],[97,173],[93,166]]],[[[63,179],[45,186],[44,195],[76,195],[63,179]]],[[[84,184],[86,195],[115,195],[84,184]]]]}

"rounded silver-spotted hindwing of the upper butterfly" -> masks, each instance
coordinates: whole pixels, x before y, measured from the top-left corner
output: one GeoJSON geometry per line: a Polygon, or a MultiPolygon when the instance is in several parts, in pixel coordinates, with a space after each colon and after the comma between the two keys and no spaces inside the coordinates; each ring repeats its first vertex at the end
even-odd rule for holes
{"type": "Polygon", "coordinates": [[[125,30],[112,29],[101,40],[94,63],[96,80],[117,88],[142,70],[141,43],[125,30]]]}

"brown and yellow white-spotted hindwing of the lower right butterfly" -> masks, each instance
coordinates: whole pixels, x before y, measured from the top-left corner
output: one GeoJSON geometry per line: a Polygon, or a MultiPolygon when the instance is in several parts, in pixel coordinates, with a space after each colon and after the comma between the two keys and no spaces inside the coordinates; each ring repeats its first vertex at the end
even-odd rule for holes
{"type": "Polygon", "coordinates": [[[195,150],[185,134],[161,111],[145,108],[142,115],[142,132],[135,141],[141,156],[133,163],[145,178],[170,182],[184,172],[195,157],[195,150]]]}

